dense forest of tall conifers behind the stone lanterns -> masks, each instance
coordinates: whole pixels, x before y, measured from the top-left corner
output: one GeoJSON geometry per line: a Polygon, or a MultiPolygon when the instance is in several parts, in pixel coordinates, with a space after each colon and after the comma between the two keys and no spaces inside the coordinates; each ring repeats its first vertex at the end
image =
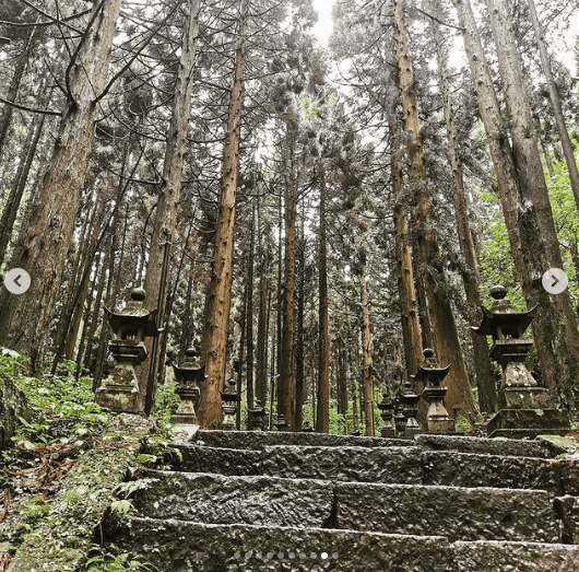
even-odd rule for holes
{"type": "Polygon", "coordinates": [[[0,0],[0,347],[101,386],[135,287],[150,371],[196,348],[291,430],[376,402],[433,348],[447,409],[496,408],[489,289],[539,305],[529,365],[579,378],[578,16],[562,0],[0,0]],[[563,268],[553,295],[541,277],[563,268]]]}

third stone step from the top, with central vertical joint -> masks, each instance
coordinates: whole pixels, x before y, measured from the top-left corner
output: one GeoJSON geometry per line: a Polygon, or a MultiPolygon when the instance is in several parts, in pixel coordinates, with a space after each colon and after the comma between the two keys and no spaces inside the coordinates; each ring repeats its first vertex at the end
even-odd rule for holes
{"type": "Polygon", "coordinates": [[[451,540],[559,540],[544,491],[162,471],[149,476],[158,481],[139,491],[134,504],[154,518],[426,536],[444,532],[451,540]]]}

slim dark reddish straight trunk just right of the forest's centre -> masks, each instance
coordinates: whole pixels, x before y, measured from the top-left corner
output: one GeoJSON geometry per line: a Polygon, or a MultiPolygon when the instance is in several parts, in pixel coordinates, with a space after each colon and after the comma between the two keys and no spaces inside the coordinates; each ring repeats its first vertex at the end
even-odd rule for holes
{"type": "Polygon", "coordinates": [[[316,431],[330,432],[330,319],[328,316],[328,247],[326,222],[326,172],[320,168],[320,235],[319,235],[319,354],[318,354],[318,415],[316,431]]]}

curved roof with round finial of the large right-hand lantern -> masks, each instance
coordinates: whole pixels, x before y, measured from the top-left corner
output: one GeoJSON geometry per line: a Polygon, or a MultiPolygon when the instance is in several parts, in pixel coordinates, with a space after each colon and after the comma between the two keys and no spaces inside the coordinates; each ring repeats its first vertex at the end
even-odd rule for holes
{"type": "Polygon", "coordinates": [[[515,312],[507,300],[507,290],[501,285],[491,289],[491,296],[494,300],[491,310],[481,306],[483,320],[480,326],[471,326],[473,331],[480,336],[493,336],[493,340],[509,338],[521,338],[527,328],[534,319],[536,307],[528,312],[515,312]]]}

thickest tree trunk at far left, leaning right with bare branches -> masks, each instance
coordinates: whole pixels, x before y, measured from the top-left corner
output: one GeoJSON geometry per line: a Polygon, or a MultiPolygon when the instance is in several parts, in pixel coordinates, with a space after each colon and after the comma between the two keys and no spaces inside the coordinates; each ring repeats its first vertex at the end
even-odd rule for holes
{"type": "Polygon", "coordinates": [[[0,345],[38,360],[62,278],[94,139],[95,94],[105,87],[121,0],[95,4],[90,27],[71,62],[67,100],[37,207],[21,233],[11,266],[31,276],[26,293],[0,300],[0,345]],[[80,63],[82,62],[82,65],[80,63]],[[35,319],[29,319],[35,316],[35,319]]]}

